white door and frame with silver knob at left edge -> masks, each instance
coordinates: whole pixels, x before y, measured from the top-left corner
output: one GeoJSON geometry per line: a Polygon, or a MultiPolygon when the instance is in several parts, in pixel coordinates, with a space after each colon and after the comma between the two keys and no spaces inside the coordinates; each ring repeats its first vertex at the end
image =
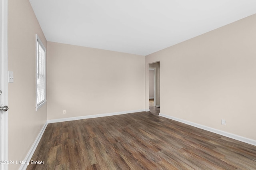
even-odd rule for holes
{"type": "MultiPolygon", "coordinates": [[[[1,84],[2,84],[2,102],[1,107],[4,105],[8,105],[8,34],[7,34],[7,26],[8,26],[8,0],[0,0],[0,8],[1,14],[0,17],[2,22],[0,24],[1,31],[1,49],[0,49],[0,60],[2,69],[1,75],[1,84]]],[[[1,115],[1,160],[8,160],[8,111],[0,113],[1,115]]],[[[7,170],[8,164],[0,164],[1,170],[7,170]]]]}

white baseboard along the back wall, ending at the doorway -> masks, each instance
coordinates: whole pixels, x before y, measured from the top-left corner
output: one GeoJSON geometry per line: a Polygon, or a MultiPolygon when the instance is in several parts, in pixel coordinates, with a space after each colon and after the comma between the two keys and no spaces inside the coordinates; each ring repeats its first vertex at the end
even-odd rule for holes
{"type": "Polygon", "coordinates": [[[136,113],[136,112],[145,112],[146,109],[140,109],[140,110],[133,110],[133,111],[123,111],[123,112],[114,112],[114,113],[104,113],[104,114],[98,114],[98,115],[88,115],[88,116],[79,116],[79,117],[68,117],[68,118],[62,118],[62,119],[52,119],[48,120],[48,123],[58,123],[58,122],[66,122],[66,121],[76,121],[81,119],[91,119],[91,118],[97,118],[97,117],[106,117],[106,116],[114,116],[114,115],[123,115],[128,113],[136,113]]]}

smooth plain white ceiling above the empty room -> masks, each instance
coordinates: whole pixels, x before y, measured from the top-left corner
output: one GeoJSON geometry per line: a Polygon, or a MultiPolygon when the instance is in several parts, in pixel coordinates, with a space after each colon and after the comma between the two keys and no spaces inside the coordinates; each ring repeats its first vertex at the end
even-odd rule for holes
{"type": "Polygon", "coordinates": [[[30,0],[47,41],[148,55],[256,14],[256,0],[30,0]]]}

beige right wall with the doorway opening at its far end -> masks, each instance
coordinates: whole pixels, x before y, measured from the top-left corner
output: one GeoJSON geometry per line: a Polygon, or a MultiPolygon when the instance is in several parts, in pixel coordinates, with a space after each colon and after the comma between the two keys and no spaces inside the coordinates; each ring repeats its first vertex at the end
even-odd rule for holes
{"type": "Polygon", "coordinates": [[[146,56],[161,63],[160,113],[256,140],[255,30],[256,14],[146,56]]]}

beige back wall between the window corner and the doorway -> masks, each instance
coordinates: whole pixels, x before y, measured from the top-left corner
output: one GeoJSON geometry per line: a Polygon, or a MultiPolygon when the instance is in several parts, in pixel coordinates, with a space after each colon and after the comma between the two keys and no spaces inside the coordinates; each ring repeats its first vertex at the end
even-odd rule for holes
{"type": "Polygon", "coordinates": [[[145,109],[145,56],[54,42],[47,50],[48,120],[145,109]]]}

